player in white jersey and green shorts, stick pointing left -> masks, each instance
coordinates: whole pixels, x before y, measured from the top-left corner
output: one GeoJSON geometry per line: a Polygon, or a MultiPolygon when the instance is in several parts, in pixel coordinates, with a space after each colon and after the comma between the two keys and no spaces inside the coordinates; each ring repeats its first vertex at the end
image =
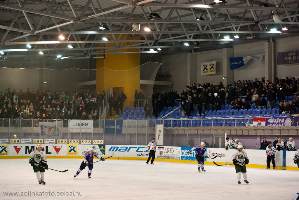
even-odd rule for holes
{"type": "Polygon", "coordinates": [[[248,184],[245,165],[249,163],[249,160],[242,145],[238,146],[238,150],[231,156],[231,159],[235,165],[238,184],[241,184],[241,172],[243,174],[244,182],[248,184]]]}

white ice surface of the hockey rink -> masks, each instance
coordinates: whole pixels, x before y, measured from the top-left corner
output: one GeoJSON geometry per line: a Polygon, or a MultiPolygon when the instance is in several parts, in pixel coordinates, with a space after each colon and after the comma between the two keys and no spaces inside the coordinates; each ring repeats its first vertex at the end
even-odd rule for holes
{"type": "Polygon", "coordinates": [[[1,159],[0,199],[284,200],[299,191],[299,171],[247,168],[249,184],[242,177],[239,185],[233,166],[205,165],[206,172],[198,172],[197,164],[107,159],[94,164],[91,179],[87,168],[74,178],[82,160],[48,159],[49,168],[68,171],[46,170],[46,185],[39,185],[28,159],[1,159]],[[7,192],[19,193],[4,196],[7,192]],[[44,193],[33,196],[36,192],[44,193]]]}

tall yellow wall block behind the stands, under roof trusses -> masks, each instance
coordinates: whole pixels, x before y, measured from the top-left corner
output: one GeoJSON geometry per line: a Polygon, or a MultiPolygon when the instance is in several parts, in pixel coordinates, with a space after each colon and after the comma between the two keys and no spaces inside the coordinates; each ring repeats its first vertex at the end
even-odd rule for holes
{"type": "MultiPolygon", "coordinates": [[[[118,35],[115,35],[115,37],[118,38],[118,35]]],[[[113,38],[110,39],[113,40],[113,38]]],[[[124,35],[122,35],[120,39],[132,40],[133,38],[129,35],[124,38],[124,35]]],[[[135,39],[140,39],[140,36],[135,36],[135,39]]],[[[135,42],[124,42],[122,46],[132,44],[135,44],[135,42]]],[[[118,45],[120,46],[120,43],[118,43],[118,45]]],[[[105,47],[116,46],[116,43],[105,43],[105,47]]],[[[119,52],[129,51],[133,52],[137,50],[119,50],[119,52]]],[[[114,52],[114,50],[106,52],[114,52]]],[[[106,91],[108,87],[123,87],[123,91],[127,98],[134,99],[135,90],[140,90],[140,67],[138,66],[140,66],[140,54],[105,54],[105,59],[97,59],[96,61],[97,69],[104,67],[96,72],[96,91],[100,91],[101,93],[103,90],[106,91]]],[[[117,100],[117,97],[115,97],[115,100],[117,100]]],[[[126,103],[127,107],[134,106],[133,101],[129,102],[126,103]]]]}

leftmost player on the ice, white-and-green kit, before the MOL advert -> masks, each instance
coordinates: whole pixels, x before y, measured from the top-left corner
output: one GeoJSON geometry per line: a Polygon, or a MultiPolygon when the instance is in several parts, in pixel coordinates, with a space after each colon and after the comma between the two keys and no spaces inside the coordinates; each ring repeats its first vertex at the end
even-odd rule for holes
{"type": "Polygon", "coordinates": [[[42,150],[42,144],[37,145],[37,149],[30,153],[29,163],[33,167],[39,184],[45,185],[45,170],[48,170],[47,158],[42,150]]]}

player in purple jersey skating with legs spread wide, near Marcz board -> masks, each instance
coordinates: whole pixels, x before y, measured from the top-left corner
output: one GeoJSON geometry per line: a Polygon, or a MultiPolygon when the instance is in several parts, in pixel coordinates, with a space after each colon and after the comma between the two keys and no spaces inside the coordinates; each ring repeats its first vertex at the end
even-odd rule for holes
{"type": "Polygon", "coordinates": [[[94,157],[97,157],[99,158],[101,161],[104,161],[105,158],[103,158],[102,156],[99,156],[97,154],[97,152],[94,152],[93,151],[93,148],[88,148],[88,152],[86,152],[84,154],[84,158],[83,158],[83,162],[82,164],[80,165],[80,168],[79,170],[77,171],[77,173],[74,175],[74,178],[80,174],[80,172],[82,172],[82,170],[88,166],[88,179],[90,179],[90,175],[91,175],[91,171],[92,171],[92,168],[93,168],[93,158],[94,157]]]}

